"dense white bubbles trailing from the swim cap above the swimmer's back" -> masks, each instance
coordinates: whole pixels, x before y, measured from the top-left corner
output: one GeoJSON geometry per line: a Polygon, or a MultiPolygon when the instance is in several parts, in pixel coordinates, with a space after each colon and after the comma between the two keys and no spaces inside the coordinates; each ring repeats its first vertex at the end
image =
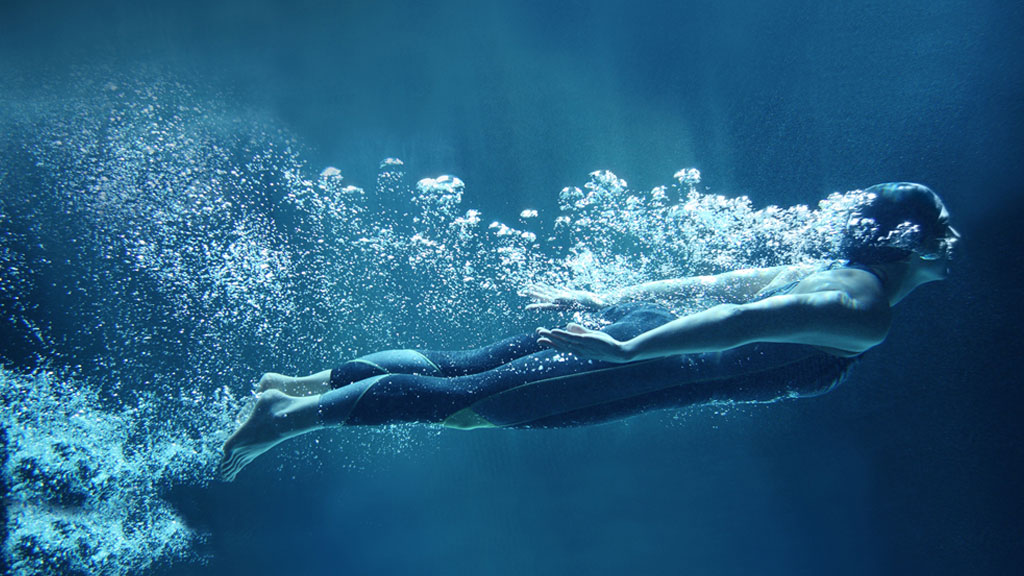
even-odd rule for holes
{"type": "MultiPolygon", "coordinates": [[[[696,169],[681,170],[676,179],[636,193],[603,170],[592,173],[583,189],[563,189],[560,214],[542,234],[546,241],[513,249],[526,263],[507,281],[602,292],[669,278],[838,259],[850,210],[864,199],[853,191],[829,195],[817,209],[755,209],[745,196],[697,192],[696,169]]],[[[504,224],[499,229],[505,237],[521,234],[504,224]]],[[[659,303],[678,314],[706,305],[700,298],[659,303]]]]}

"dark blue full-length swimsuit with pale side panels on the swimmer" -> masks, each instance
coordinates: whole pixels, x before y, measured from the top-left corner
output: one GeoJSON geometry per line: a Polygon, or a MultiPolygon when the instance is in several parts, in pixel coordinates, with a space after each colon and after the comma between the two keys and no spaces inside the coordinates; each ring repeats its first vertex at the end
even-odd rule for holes
{"type": "MultiPolygon", "coordinates": [[[[675,319],[651,304],[605,311],[616,339],[675,319]]],[[[434,422],[451,427],[559,427],[715,401],[817,396],[849,359],[808,346],[751,344],[725,353],[614,364],[543,348],[531,334],[465,352],[389,351],[331,372],[325,423],[434,422]]]]}

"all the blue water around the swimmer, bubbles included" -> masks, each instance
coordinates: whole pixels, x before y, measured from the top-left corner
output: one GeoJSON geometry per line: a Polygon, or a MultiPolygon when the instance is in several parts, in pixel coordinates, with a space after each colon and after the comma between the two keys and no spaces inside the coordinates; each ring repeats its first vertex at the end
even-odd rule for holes
{"type": "Polygon", "coordinates": [[[5,2],[3,567],[1012,572],[1022,32],[1005,1],[5,2]],[[569,320],[522,311],[536,278],[821,256],[818,202],[884,180],[966,258],[825,397],[329,430],[213,480],[263,371],[569,320]]]}

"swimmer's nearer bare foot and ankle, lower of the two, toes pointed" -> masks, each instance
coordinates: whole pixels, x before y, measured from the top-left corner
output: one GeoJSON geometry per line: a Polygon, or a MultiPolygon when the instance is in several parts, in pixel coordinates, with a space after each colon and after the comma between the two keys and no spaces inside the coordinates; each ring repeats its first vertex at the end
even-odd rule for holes
{"type": "Polygon", "coordinates": [[[295,398],[268,389],[256,401],[253,413],[224,443],[220,477],[231,482],[260,454],[289,438],[318,427],[319,397],[295,398]]]}

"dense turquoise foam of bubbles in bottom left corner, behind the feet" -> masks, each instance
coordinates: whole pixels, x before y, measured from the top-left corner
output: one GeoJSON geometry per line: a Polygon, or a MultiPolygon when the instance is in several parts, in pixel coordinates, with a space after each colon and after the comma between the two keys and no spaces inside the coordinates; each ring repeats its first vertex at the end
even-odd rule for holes
{"type": "MultiPolygon", "coordinates": [[[[13,573],[128,575],[200,560],[193,546],[203,536],[163,495],[206,482],[211,439],[182,434],[153,404],[103,408],[82,381],[48,372],[0,368],[0,398],[13,573]]],[[[234,404],[210,399],[203,423],[225,425],[218,414],[234,404]]]]}

